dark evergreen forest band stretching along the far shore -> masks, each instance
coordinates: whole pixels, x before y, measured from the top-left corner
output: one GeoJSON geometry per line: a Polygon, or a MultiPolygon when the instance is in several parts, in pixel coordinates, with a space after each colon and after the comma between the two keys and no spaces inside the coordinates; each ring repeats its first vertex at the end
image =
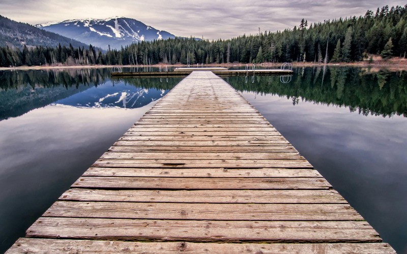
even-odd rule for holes
{"type": "Polygon", "coordinates": [[[243,35],[228,40],[175,38],[140,42],[102,53],[73,47],[0,51],[0,65],[33,64],[195,64],[262,62],[353,62],[368,54],[404,57],[407,51],[407,5],[385,6],[364,16],[308,24],[277,32],[243,35]],[[25,51],[24,51],[25,50],[25,51]],[[41,54],[43,53],[43,55],[41,54]],[[27,59],[30,60],[27,62],[27,59]]]}

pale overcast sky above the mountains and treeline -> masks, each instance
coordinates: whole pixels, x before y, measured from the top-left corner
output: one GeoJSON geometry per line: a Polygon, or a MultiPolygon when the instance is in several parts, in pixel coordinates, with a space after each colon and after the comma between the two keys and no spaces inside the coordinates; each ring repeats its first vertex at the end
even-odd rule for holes
{"type": "Polygon", "coordinates": [[[0,15],[30,24],[121,16],[176,36],[212,40],[256,34],[258,27],[284,30],[298,26],[302,18],[311,23],[405,4],[383,0],[0,0],[0,15]]]}

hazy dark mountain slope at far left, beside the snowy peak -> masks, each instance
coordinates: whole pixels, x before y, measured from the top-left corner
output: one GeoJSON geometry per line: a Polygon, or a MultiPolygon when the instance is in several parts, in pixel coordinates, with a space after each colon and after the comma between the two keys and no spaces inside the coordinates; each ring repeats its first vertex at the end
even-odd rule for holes
{"type": "Polygon", "coordinates": [[[62,46],[89,47],[89,44],[66,38],[51,32],[38,29],[30,24],[11,20],[0,15],[0,47],[26,46],[62,46]]]}

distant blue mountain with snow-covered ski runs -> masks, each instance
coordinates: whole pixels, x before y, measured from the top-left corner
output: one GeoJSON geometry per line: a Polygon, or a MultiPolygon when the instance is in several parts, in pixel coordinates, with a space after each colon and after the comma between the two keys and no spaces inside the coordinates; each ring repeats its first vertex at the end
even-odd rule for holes
{"type": "Polygon", "coordinates": [[[125,17],[73,19],[38,24],[36,27],[103,49],[108,49],[109,45],[110,48],[119,49],[133,42],[175,38],[166,31],[125,17]]]}

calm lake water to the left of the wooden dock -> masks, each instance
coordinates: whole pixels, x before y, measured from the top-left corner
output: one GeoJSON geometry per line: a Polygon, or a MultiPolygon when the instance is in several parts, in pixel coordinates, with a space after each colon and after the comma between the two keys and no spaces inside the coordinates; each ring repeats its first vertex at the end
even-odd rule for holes
{"type": "Polygon", "coordinates": [[[0,72],[0,253],[180,80],[0,72]]]}

